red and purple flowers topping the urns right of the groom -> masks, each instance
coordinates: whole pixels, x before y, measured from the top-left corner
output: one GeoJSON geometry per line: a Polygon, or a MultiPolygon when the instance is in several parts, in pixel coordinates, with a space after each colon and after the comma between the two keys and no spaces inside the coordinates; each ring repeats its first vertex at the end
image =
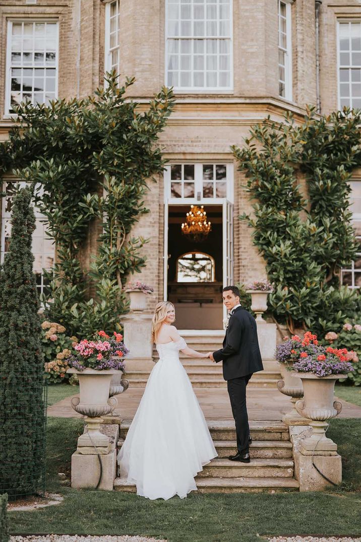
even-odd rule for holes
{"type": "Polygon", "coordinates": [[[286,363],[289,370],[309,372],[319,377],[352,373],[354,367],[351,362],[357,358],[352,350],[320,345],[317,336],[310,331],[303,339],[299,335],[286,338],[277,346],[275,357],[278,362],[286,363]]]}

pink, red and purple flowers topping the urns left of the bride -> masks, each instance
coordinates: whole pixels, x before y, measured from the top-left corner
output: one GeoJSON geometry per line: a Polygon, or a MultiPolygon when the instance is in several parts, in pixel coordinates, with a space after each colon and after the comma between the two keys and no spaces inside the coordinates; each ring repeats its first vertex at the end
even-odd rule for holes
{"type": "Polygon", "coordinates": [[[110,337],[105,331],[98,331],[92,340],[83,339],[75,344],[74,350],[76,353],[67,358],[67,363],[77,371],[84,369],[125,371],[123,358],[129,350],[123,343],[121,333],[115,331],[113,337],[110,337]]]}

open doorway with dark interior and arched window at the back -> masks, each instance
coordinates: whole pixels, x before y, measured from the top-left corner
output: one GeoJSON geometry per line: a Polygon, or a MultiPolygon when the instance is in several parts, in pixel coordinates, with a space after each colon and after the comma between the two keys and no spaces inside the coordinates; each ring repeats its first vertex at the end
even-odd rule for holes
{"type": "Polygon", "coordinates": [[[168,207],[167,298],[175,306],[182,330],[223,327],[223,208],[205,205],[211,231],[197,240],[182,233],[189,205],[168,207]]]}

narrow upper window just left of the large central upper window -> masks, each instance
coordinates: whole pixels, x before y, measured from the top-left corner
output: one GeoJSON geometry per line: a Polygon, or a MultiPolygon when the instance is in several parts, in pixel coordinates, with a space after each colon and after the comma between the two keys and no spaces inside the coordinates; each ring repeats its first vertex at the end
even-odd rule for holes
{"type": "Polygon", "coordinates": [[[105,72],[120,72],[120,0],[105,5],[105,72]]]}

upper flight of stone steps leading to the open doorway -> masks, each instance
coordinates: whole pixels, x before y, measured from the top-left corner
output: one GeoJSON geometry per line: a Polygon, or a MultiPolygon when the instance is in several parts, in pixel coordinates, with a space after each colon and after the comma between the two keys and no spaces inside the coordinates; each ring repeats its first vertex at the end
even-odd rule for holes
{"type": "MultiPolygon", "coordinates": [[[[218,350],[222,346],[224,331],[180,331],[189,348],[198,352],[210,352],[218,350]]],[[[158,353],[153,351],[153,359],[156,360],[158,353]]],[[[214,363],[210,359],[189,358],[180,352],[180,360],[185,367],[193,388],[224,388],[225,382],[222,375],[222,364],[214,363]]],[[[264,371],[252,376],[248,388],[267,389],[276,388],[277,380],[280,380],[278,364],[275,359],[263,359],[264,371]]],[[[149,371],[126,372],[126,378],[133,388],[144,388],[147,384],[149,371]]]]}

